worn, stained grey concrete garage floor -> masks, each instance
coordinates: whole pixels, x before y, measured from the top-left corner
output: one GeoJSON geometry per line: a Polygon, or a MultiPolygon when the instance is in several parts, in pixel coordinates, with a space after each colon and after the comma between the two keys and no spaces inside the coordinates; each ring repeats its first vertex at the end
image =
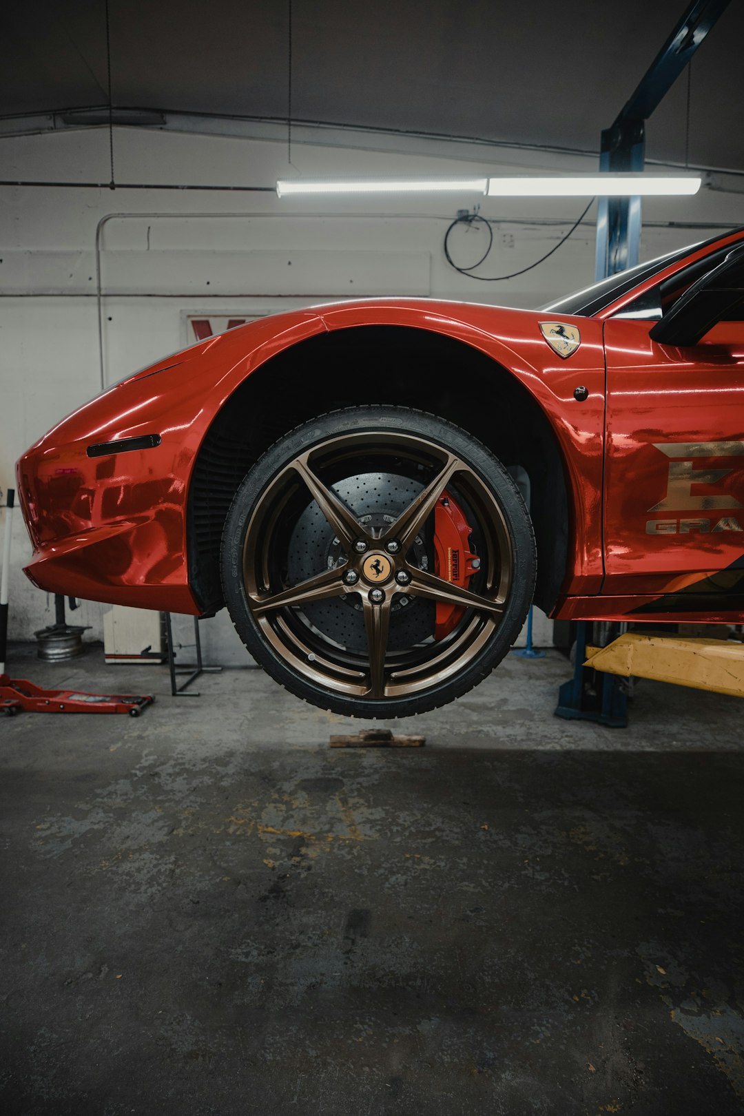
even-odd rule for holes
{"type": "Polygon", "coordinates": [[[566,723],[566,661],[510,657],[424,750],[331,751],[259,671],[32,654],[158,699],[0,719],[3,1113],[744,1108],[736,700],[566,723]]]}

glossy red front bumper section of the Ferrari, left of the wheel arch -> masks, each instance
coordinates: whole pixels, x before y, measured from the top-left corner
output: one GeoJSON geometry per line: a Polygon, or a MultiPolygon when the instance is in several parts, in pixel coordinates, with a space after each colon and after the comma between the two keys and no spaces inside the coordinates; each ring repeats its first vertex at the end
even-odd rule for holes
{"type": "Polygon", "coordinates": [[[222,334],[109,388],[20,459],[18,492],[35,551],[26,573],[35,585],[199,615],[187,576],[186,497],[202,439],[252,360],[322,328],[307,312],[267,323],[249,327],[252,344],[222,334]],[[87,455],[91,443],[152,433],[161,435],[153,449],[87,455]]]}

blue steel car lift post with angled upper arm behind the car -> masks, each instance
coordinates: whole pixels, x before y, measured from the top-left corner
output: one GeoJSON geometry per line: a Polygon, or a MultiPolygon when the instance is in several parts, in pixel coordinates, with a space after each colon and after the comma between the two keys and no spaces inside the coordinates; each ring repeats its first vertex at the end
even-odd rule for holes
{"type": "MultiPolygon", "coordinates": [[[[639,173],[644,170],[646,121],[689,64],[729,0],[695,0],[640,79],[615,123],[601,135],[600,172],[639,173]]],[[[640,257],[640,198],[599,198],[595,280],[632,268],[640,257]]],[[[576,632],[573,677],[558,692],[555,715],[567,720],[597,721],[610,728],[628,723],[628,699],[618,677],[584,666],[589,622],[576,632]]],[[[618,633],[620,626],[617,625],[618,633]]]]}

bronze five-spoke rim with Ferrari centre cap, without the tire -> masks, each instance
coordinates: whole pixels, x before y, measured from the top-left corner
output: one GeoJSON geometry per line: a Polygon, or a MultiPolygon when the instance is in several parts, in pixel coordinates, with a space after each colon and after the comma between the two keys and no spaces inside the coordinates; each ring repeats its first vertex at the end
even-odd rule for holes
{"type": "MultiPolygon", "coordinates": [[[[427,555],[431,567],[431,547],[427,555]]],[[[479,473],[442,445],[389,430],[341,433],[294,458],[261,493],[243,542],[245,599],[268,644],[302,677],[335,693],[369,700],[421,693],[465,670],[496,631],[509,604],[512,576],[509,530],[494,493],[479,473]],[[355,514],[334,490],[344,478],[370,466],[414,477],[421,488],[397,518],[381,528],[360,522],[367,517],[355,514]],[[470,589],[414,560],[414,540],[419,543],[431,529],[445,490],[467,507],[482,548],[481,568],[470,589]],[[326,568],[299,584],[288,584],[290,528],[313,501],[329,538],[340,543],[341,556],[338,564],[331,566],[328,559],[326,568]],[[364,654],[328,638],[303,614],[315,602],[351,594],[355,607],[360,603],[364,610],[364,654]],[[402,594],[414,600],[455,604],[464,612],[444,639],[431,637],[390,652],[390,615],[402,594]]]]}

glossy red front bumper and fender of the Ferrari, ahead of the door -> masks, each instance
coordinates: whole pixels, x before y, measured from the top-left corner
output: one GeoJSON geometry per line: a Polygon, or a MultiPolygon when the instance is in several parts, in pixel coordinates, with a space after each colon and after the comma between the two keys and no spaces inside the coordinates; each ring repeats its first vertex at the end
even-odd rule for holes
{"type": "Polygon", "coordinates": [[[600,502],[605,368],[601,325],[580,319],[570,365],[525,310],[379,300],[264,318],[192,346],[125,381],[59,423],[21,458],[18,490],[35,546],[27,569],[49,591],[199,613],[186,562],[186,497],[200,444],[221,406],[257,367],[315,333],[404,325],[460,338],[511,368],[555,430],[571,482],[577,533],[569,585],[602,575],[600,502]],[[161,369],[161,371],[158,371],[161,369]],[[581,382],[583,404],[573,398],[581,382]],[[88,458],[90,443],[157,433],[161,445],[88,458]]]}

